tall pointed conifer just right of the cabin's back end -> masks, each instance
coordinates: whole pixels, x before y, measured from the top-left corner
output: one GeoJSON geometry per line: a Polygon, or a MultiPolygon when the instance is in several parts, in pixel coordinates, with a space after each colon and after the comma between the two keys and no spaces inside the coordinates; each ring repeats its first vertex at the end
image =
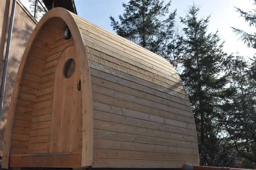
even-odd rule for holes
{"type": "Polygon", "coordinates": [[[218,138],[223,130],[219,121],[222,118],[222,100],[227,93],[224,90],[227,83],[224,74],[227,54],[222,50],[223,42],[218,31],[207,33],[210,16],[198,19],[199,10],[193,4],[189,6],[186,16],[181,17],[184,24],[181,78],[194,113],[200,164],[230,166],[230,156],[234,156],[234,153],[230,153],[218,138]]]}

